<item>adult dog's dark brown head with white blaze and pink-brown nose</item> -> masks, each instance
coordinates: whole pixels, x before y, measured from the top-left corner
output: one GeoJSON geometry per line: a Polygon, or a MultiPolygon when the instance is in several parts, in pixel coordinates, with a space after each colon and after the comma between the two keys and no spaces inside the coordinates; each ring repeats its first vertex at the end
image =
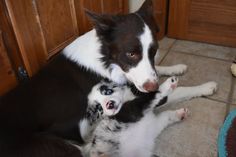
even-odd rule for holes
{"type": "Polygon", "coordinates": [[[141,92],[158,89],[154,57],[158,49],[158,27],[153,17],[151,0],[146,0],[135,13],[97,15],[87,11],[102,43],[102,61],[110,68],[115,82],[128,80],[141,92]]]}

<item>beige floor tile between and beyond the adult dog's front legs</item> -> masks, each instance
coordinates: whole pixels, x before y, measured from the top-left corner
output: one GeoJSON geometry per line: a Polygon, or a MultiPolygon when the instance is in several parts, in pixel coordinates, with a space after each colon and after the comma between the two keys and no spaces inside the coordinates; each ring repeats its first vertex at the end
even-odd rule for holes
{"type": "Polygon", "coordinates": [[[186,74],[180,77],[179,85],[193,86],[207,81],[216,81],[218,91],[211,98],[227,102],[231,87],[231,63],[184,53],[169,52],[161,65],[188,65],[186,74]]]}

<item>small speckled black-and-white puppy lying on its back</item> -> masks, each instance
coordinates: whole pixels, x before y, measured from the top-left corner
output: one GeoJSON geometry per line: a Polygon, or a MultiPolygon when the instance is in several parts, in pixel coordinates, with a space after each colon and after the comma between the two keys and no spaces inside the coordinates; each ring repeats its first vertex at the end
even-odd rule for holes
{"type": "Polygon", "coordinates": [[[153,102],[133,106],[126,106],[128,101],[136,98],[129,87],[105,82],[95,85],[88,97],[88,116],[80,123],[82,137],[86,141],[86,145],[81,147],[83,155],[152,157],[156,137],[165,127],[188,115],[186,108],[158,115],[154,113],[177,87],[177,82],[176,77],[167,79],[160,86],[153,102]],[[125,121],[120,119],[120,112],[129,112],[125,121]]]}

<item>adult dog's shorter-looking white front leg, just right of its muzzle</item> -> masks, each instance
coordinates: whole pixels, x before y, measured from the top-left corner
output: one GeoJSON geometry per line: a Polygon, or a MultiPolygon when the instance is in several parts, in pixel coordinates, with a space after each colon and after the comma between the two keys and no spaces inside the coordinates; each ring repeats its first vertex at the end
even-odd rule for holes
{"type": "Polygon", "coordinates": [[[173,66],[155,66],[157,74],[160,76],[182,75],[187,71],[187,65],[177,64],[173,66]]]}

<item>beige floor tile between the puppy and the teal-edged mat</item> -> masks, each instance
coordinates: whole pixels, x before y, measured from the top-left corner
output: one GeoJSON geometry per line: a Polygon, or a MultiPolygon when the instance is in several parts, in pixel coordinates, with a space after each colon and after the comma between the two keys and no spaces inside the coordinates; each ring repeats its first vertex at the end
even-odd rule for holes
{"type": "Polygon", "coordinates": [[[155,152],[161,157],[217,157],[217,138],[225,106],[205,98],[165,106],[162,110],[187,107],[190,116],[161,133],[155,152]]]}

